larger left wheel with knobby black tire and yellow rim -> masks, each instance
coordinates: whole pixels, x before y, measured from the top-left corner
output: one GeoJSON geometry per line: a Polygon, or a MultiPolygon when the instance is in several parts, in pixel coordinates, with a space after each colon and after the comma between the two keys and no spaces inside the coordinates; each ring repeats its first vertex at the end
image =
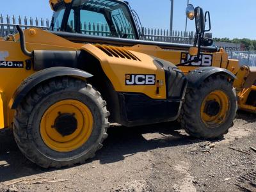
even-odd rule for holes
{"type": "Polygon", "coordinates": [[[92,85],[58,77],[36,86],[15,112],[21,152],[43,168],[84,163],[107,138],[109,112],[92,85]]]}

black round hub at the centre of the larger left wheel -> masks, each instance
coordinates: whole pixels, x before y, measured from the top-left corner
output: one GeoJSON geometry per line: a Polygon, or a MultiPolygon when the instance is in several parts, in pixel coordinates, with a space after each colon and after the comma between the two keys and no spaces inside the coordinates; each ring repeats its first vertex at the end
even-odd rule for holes
{"type": "Polygon", "coordinates": [[[73,134],[77,129],[76,117],[70,113],[60,114],[54,122],[54,128],[63,137],[73,134]]]}

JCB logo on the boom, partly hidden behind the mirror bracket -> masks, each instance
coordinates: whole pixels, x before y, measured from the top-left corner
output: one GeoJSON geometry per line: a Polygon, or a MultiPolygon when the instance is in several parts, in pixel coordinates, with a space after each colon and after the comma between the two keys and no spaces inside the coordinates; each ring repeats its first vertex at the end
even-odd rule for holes
{"type": "MultiPolygon", "coordinates": [[[[196,56],[190,56],[188,52],[181,53],[180,63],[184,63],[189,60],[194,60],[196,56]]],[[[212,54],[200,54],[198,62],[188,63],[183,66],[199,66],[199,67],[211,67],[212,66],[212,54]]]]}

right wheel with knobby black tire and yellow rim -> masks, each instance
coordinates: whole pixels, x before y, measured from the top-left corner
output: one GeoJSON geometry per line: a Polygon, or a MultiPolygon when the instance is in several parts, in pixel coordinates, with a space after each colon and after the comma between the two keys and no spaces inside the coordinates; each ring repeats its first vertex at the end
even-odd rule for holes
{"type": "Polygon", "coordinates": [[[198,88],[188,88],[179,121],[189,135],[214,139],[227,134],[236,112],[232,81],[225,76],[211,76],[198,88]]]}

